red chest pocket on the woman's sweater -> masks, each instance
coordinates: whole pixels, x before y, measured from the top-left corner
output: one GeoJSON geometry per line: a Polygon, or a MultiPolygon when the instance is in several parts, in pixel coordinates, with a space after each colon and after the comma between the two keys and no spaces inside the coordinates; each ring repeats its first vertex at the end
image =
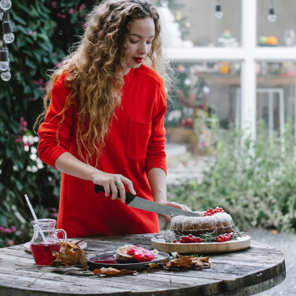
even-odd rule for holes
{"type": "Polygon", "coordinates": [[[131,159],[141,159],[146,156],[148,141],[151,135],[152,122],[128,120],[128,136],[126,153],[131,159]]]}

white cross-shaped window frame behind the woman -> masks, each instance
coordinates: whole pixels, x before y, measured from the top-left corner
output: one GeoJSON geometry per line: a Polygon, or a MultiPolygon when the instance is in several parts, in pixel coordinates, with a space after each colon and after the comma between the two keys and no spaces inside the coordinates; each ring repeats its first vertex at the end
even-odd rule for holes
{"type": "MultiPolygon", "coordinates": [[[[241,47],[168,48],[174,62],[230,61],[241,62],[241,127],[256,137],[256,62],[296,61],[295,47],[258,47],[257,0],[241,0],[241,47]]],[[[268,7],[266,8],[267,11],[268,7]]],[[[214,17],[214,13],[213,13],[214,17]]],[[[267,17],[267,16],[266,16],[267,17]]],[[[295,112],[296,112],[296,93],[295,112]]],[[[296,115],[296,113],[295,113],[296,115]]],[[[295,116],[296,117],[296,116],[295,116]]],[[[296,120],[295,120],[296,132],[296,120]]]]}

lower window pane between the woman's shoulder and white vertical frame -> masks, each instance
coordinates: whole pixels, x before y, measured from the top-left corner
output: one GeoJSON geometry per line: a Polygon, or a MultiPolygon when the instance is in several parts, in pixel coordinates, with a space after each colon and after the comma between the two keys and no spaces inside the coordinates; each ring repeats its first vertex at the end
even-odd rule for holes
{"type": "Polygon", "coordinates": [[[219,123],[229,128],[240,117],[240,63],[176,63],[174,67],[179,90],[165,116],[168,166],[188,156],[206,155],[216,140],[211,130],[219,123]]]}

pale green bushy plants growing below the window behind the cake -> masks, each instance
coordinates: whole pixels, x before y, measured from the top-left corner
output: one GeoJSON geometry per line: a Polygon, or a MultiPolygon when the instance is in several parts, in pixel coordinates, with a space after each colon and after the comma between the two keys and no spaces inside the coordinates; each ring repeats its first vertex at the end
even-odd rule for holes
{"type": "Polygon", "coordinates": [[[212,130],[214,155],[207,157],[203,181],[168,186],[168,199],[193,210],[222,207],[241,229],[260,226],[277,230],[296,227],[296,163],[292,123],[280,137],[256,140],[241,131],[212,130]]]}

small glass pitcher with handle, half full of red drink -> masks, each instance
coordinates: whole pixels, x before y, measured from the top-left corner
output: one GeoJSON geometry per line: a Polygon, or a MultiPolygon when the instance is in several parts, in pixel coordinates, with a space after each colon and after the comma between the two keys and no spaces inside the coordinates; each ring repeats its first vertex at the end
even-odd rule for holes
{"type": "Polygon", "coordinates": [[[34,226],[34,234],[30,241],[30,248],[36,264],[50,265],[56,259],[52,251],[64,251],[67,243],[67,233],[64,229],[56,229],[57,221],[54,219],[38,219],[39,225],[35,220],[31,222],[34,226]],[[63,234],[63,245],[57,237],[57,233],[63,234]]]}

